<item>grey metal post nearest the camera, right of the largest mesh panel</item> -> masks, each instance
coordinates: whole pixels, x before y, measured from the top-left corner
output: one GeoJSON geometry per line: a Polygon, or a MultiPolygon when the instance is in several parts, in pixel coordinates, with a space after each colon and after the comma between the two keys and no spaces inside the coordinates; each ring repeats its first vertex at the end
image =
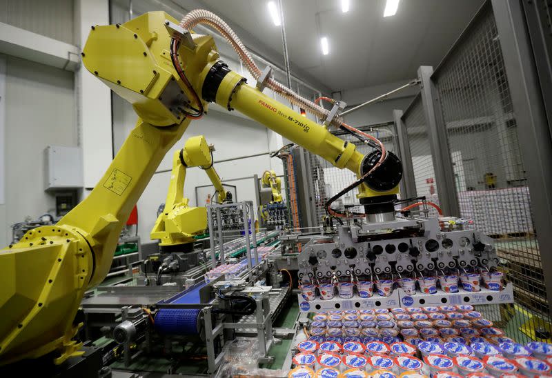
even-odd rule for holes
{"type": "MultiPolygon", "coordinates": [[[[546,297],[552,313],[552,273],[546,269],[552,264],[552,254],[548,250],[552,245],[552,232],[549,232],[552,224],[552,129],[546,117],[542,82],[522,4],[520,1],[492,0],[492,5],[531,193],[546,297]]],[[[544,93],[549,89],[544,86],[544,93]]]]}

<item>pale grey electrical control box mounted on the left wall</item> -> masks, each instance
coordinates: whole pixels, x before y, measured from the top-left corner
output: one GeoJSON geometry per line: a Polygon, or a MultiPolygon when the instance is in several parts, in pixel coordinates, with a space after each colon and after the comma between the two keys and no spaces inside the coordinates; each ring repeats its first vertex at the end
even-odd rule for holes
{"type": "Polygon", "coordinates": [[[46,147],[44,149],[44,190],[82,188],[82,168],[81,148],[46,147]]]}

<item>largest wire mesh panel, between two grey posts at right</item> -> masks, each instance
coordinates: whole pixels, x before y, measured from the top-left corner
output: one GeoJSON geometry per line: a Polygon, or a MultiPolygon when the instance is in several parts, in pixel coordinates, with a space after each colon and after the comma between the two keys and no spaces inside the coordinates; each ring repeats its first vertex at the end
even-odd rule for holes
{"type": "MultiPolygon", "coordinates": [[[[446,124],[460,213],[495,238],[502,268],[515,284],[516,304],[501,308],[502,326],[526,341],[537,338],[539,328],[549,330],[550,318],[498,38],[491,4],[486,3],[432,79],[446,124]]],[[[411,142],[413,160],[416,148],[411,142]]]]}

